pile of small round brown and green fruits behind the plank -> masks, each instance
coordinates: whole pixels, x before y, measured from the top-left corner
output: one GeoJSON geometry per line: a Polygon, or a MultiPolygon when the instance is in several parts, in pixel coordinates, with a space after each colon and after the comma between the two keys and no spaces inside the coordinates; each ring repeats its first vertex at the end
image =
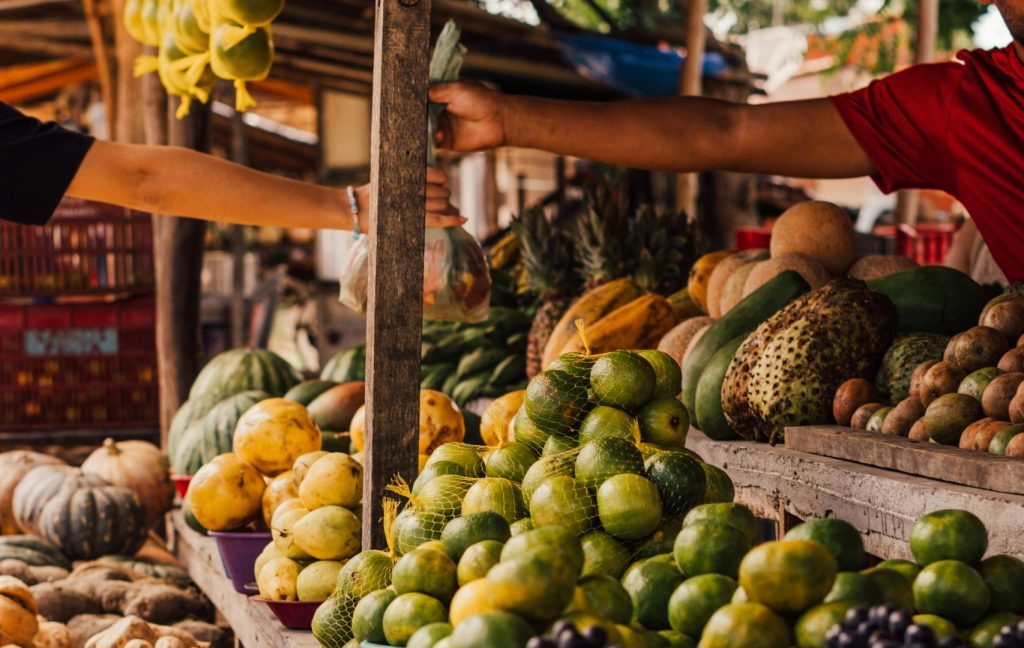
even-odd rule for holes
{"type": "Polygon", "coordinates": [[[840,425],[1024,457],[1024,298],[1007,292],[978,326],[949,338],[900,336],[873,384],[851,379],[836,392],[840,425]],[[887,404],[892,403],[892,404],[887,404]]]}

